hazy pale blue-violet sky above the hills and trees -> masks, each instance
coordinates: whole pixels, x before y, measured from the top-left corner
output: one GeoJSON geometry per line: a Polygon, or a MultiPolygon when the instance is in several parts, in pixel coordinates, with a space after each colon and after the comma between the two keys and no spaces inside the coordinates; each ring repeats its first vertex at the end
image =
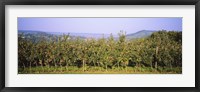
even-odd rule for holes
{"type": "Polygon", "coordinates": [[[18,18],[18,30],[129,34],[162,29],[182,31],[182,18],[18,18]]]}

